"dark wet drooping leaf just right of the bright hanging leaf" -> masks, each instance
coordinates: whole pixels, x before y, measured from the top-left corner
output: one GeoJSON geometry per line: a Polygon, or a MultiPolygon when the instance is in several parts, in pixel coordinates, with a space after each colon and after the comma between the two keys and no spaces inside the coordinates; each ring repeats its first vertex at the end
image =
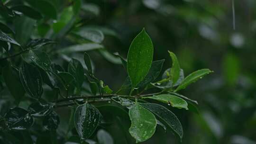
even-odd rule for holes
{"type": "Polygon", "coordinates": [[[180,139],[182,139],[183,128],[178,117],[176,117],[173,112],[158,104],[141,103],[140,105],[153,112],[157,117],[160,117],[161,120],[164,121],[174,133],[180,137],[180,139]]]}

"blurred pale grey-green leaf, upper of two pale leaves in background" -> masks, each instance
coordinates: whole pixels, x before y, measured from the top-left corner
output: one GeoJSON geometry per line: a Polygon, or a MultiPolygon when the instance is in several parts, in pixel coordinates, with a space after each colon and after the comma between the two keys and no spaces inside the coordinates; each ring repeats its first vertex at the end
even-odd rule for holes
{"type": "Polygon", "coordinates": [[[104,35],[100,30],[90,29],[86,27],[79,29],[79,31],[75,32],[75,34],[94,43],[101,43],[104,40],[104,35]]]}

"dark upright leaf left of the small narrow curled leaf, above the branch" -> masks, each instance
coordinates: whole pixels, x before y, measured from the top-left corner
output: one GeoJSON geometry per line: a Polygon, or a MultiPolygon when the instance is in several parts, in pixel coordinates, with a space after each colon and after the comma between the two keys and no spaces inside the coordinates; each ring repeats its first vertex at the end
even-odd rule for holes
{"type": "Polygon", "coordinates": [[[84,81],[83,79],[84,72],[83,72],[83,67],[80,61],[76,59],[72,59],[68,63],[68,72],[74,76],[76,81],[76,88],[78,90],[77,92],[80,92],[82,83],[84,81]]]}

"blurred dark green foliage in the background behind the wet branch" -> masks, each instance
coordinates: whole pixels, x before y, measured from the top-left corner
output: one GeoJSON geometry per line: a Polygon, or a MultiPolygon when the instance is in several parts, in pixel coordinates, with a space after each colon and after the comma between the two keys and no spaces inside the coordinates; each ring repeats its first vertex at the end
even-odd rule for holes
{"type": "MultiPolygon", "coordinates": [[[[2,1],[10,7],[23,3],[2,1]]],[[[183,125],[183,144],[256,144],[255,0],[234,0],[233,7],[232,0],[83,0],[80,11],[73,0],[25,1],[43,13],[43,19],[1,16],[0,22],[14,29],[15,39],[23,45],[30,38],[56,40],[54,47],[43,50],[64,67],[71,57],[82,60],[83,51],[89,51],[97,77],[113,90],[126,78],[113,53],[126,57],[132,39],[145,27],[155,47],[154,60],[166,60],[164,70],[171,66],[170,50],[185,75],[202,68],[214,71],[182,91],[199,102],[199,114],[174,109],[183,125]],[[48,1],[48,9],[42,9],[44,1],[48,1]],[[81,45],[85,49],[81,50],[81,45]]],[[[18,59],[14,61],[18,63],[18,59]]],[[[8,105],[1,100],[1,114],[8,105]]],[[[26,102],[20,105],[28,106],[26,102]]],[[[109,116],[104,110],[103,115],[109,116]]],[[[58,113],[65,117],[61,119],[68,119],[65,109],[58,109],[58,113]]],[[[66,123],[61,121],[58,133],[64,133],[66,123]]],[[[126,144],[118,126],[103,127],[116,144],[126,144]]],[[[179,142],[161,127],[145,142],[173,143],[179,142]]]]}

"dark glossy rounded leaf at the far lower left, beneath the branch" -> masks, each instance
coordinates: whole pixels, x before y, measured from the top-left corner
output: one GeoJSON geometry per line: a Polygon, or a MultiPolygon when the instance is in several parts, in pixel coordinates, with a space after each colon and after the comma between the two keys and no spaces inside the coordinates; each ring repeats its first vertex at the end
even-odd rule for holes
{"type": "Polygon", "coordinates": [[[24,130],[33,125],[34,119],[23,108],[10,108],[5,114],[7,126],[12,130],[24,130]]]}

